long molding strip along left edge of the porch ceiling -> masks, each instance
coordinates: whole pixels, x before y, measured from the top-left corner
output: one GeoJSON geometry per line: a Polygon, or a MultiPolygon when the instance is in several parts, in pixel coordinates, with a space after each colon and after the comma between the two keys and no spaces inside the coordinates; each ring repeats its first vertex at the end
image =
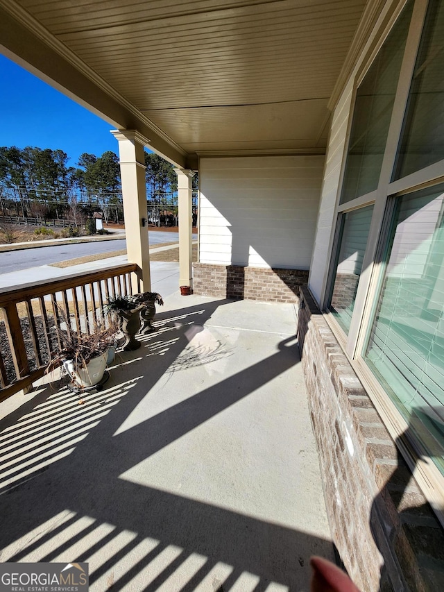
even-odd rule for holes
{"type": "MultiPolygon", "coordinates": [[[[141,121],[145,126],[147,126],[150,130],[152,130],[155,135],[159,136],[164,142],[167,142],[171,148],[175,151],[180,153],[180,155],[186,157],[187,152],[182,149],[182,147],[174,142],[174,140],[169,137],[161,128],[156,126],[151,119],[148,119],[146,115],[140,112],[133,103],[130,103],[128,99],[124,96],[119,94],[110,84],[108,84],[99,74],[94,71],[91,67],[89,67],[83,60],[78,58],[76,54],[71,51],[64,43],[57,39],[48,29],[46,29],[40,22],[37,21],[32,15],[29,14],[22,6],[19,6],[14,0],[0,0],[0,6],[8,12],[8,14],[15,19],[20,25],[26,28],[32,35],[37,37],[41,42],[43,42],[46,46],[49,47],[52,51],[56,52],[58,56],[60,56],[63,60],[69,63],[72,67],[74,67],[80,74],[83,74],[85,78],[88,78],[89,81],[94,83],[96,87],[98,87],[101,91],[105,92],[110,96],[114,101],[119,103],[123,108],[125,108],[131,115],[136,117],[139,121],[141,121]]],[[[0,38],[1,42],[1,38],[0,38]]],[[[42,74],[49,76],[51,80],[58,83],[55,78],[52,78],[49,74],[42,71],[42,74]]],[[[67,89],[68,90],[68,89],[67,89]]],[[[72,92],[72,91],[71,91],[72,92]]],[[[81,99],[81,96],[79,96],[81,99]]],[[[97,105],[91,105],[92,108],[95,108],[99,111],[97,105]]],[[[103,115],[107,115],[103,113],[103,115]]],[[[109,115],[108,115],[109,117],[109,115]]]]}

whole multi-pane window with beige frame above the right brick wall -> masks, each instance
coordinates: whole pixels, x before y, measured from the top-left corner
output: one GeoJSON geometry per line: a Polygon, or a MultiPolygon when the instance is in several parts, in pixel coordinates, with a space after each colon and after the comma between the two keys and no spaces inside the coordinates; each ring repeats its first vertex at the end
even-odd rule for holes
{"type": "Polygon", "coordinates": [[[444,0],[409,0],[380,33],[352,105],[325,303],[444,523],[444,0]]]}

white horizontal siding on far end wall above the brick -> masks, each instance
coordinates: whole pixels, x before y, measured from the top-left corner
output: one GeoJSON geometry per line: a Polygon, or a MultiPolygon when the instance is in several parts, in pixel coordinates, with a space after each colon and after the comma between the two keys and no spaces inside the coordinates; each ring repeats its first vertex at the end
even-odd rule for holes
{"type": "Polygon", "coordinates": [[[200,158],[199,262],[309,269],[323,156],[200,158]]]}

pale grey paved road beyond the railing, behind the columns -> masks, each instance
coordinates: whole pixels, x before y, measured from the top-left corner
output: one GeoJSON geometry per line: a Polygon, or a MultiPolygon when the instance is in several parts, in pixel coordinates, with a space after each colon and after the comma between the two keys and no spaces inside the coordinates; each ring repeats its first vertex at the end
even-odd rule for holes
{"type": "MultiPolygon", "coordinates": [[[[156,232],[155,230],[151,230],[149,239],[151,245],[161,244],[178,241],[179,235],[178,232],[156,232]]],[[[126,239],[6,251],[0,253],[0,274],[39,267],[40,265],[50,263],[58,263],[76,257],[84,257],[85,255],[111,253],[112,251],[121,251],[123,249],[126,249],[126,239]]]]}

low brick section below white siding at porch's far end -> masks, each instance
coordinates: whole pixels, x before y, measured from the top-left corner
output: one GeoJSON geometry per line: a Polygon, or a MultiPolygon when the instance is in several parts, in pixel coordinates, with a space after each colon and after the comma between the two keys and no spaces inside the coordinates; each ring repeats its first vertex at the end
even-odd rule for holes
{"type": "Polygon", "coordinates": [[[195,263],[193,292],[200,296],[244,298],[265,302],[299,302],[308,271],[195,263]]]}

